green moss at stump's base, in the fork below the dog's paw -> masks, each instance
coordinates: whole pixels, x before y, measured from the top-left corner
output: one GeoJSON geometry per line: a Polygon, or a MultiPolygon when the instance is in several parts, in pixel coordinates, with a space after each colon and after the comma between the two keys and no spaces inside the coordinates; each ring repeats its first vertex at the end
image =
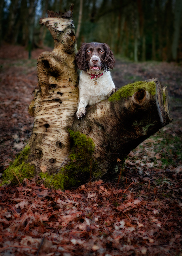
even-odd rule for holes
{"type": "Polygon", "coordinates": [[[95,148],[93,140],[80,132],[68,131],[71,140],[68,164],[51,176],[47,172],[40,173],[44,184],[51,185],[56,189],[78,186],[80,182],[89,179],[91,167],[92,170],[96,167],[96,163],[92,159],[95,148]]]}

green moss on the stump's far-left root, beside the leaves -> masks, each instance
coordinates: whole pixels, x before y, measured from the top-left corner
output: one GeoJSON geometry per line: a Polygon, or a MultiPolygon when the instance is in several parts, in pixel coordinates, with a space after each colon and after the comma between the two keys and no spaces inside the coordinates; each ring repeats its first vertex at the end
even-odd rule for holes
{"type": "Polygon", "coordinates": [[[17,185],[18,180],[22,183],[24,178],[30,179],[35,177],[35,166],[26,163],[29,155],[29,149],[30,147],[25,146],[25,148],[16,156],[14,162],[12,162],[4,171],[2,176],[3,180],[0,184],[1,186],[9,183],[17,185]]]}

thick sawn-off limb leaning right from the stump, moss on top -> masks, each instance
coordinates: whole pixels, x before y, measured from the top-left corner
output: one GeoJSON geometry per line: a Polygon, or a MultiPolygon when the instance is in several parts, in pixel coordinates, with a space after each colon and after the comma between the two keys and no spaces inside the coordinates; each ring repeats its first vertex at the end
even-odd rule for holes
{"type": "Polygon", "coordinates": [[[108,100],[89,107],[86,116],[75,120],[72,127],[95,143],[95,176],[105,174],[111,179],[118,172],[118,158],[124,160],[171,121],[167,87],[162,88],[158,78],[153,78],[123,86],[108,100]]]}

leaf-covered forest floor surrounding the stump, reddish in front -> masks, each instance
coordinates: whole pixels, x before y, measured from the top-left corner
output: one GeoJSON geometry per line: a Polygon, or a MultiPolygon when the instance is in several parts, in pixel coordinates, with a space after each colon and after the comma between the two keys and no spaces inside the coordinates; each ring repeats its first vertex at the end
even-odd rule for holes
{"type": "MultiPolygon", "coordinates": [[[[28,106],[43,49],[0,49],[0,175],[28,142],[28,106]]],[[[117,60],[116,86],[158,77],[167,86],[172,123],[127,157],[120,181],[98,180],[66,191],[37,176],[0,188],[0,254],[182,256],[182,66],[117,60]],[[118,183],[118,184],[117,184],[118,183]]]]}

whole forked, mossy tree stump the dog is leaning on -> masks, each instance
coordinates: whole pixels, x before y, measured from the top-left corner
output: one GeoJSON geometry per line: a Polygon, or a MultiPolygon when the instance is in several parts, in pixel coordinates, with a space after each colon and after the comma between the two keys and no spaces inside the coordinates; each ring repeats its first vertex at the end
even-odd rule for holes
{"type": "Polygon", "coordinates": [[[55,48],[37,60],[38,87],[29,107],[33,132],[4,171],[3,184],[36,174],[61,189],[86,182],[90,176],[112,180],[120,168],[118,158],[124,163],[132,149],[172,121],[167,89],[157,78],[128,84],[87,108],[82,120],[75,118],[78,74],[72,7],[65,13],[48,11],[48,18],[40,19],[55,48]]]}

